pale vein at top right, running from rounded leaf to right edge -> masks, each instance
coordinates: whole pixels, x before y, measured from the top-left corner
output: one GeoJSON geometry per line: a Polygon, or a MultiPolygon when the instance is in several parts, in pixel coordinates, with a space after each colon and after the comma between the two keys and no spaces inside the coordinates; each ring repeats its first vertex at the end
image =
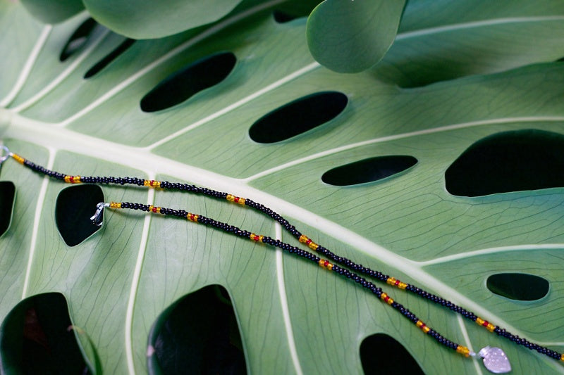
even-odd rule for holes
{"type": "Polygon", "coordinates": [[[410,32],[400,32],[396,36],[396,40],[422,37],[429,34],[438,34],[440,32],[449,32],[457,30],[472,29],[476,27],[484,26],[494,26],[494,25],[506,25],[510,23],[534,23],[534,22],[546,22],[546,21],[562,21],[564,20],[564,15],[541,15],[537,17],[510,17],[510,18],[496,18],[494,20],[482,20],[474,21],[468,23],[457,23],[454,25],[445,25],[438,27],[429,27],[427,29],[415,30],[410,32]]]}

